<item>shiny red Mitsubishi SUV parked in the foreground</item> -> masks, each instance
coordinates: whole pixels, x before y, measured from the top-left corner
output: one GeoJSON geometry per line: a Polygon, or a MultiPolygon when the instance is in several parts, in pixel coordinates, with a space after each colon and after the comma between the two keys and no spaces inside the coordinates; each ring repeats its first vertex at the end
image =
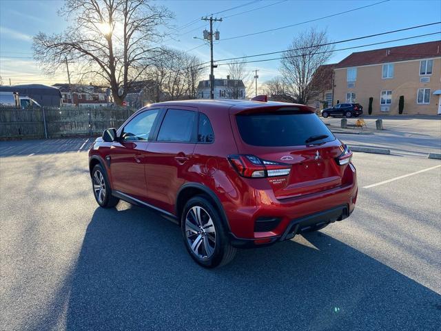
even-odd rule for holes
{"type": "Polygon", "coordinates": [[[96,201],[152,208],[181,225],[199,264],[231,261],[349,217],[352,153],[314,108],[258,101],[170,101],[108,129],[89,152],[96,201]]]}

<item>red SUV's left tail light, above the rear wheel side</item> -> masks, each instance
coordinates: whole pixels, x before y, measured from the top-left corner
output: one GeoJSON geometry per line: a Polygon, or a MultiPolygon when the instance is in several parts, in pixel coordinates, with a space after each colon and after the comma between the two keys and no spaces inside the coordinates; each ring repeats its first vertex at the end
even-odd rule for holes
{"type": "Polygon", "coordinates": [[[265,178],[287,176],[291,165],[275,161],[267,161],[249,154],[232,154],[228,156],[229,162],[242,177],[265,178]]]}

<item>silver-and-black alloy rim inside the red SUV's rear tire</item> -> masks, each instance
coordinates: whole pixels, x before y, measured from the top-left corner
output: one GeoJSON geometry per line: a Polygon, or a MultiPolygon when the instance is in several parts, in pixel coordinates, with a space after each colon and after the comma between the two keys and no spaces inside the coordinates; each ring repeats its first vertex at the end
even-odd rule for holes
{"type": "Polygon", "coordinates": [[[194,205],[185,217],[185,235],[191,250],[201,259],[209,259],[216,248],[216,229],[207,210],[194,205]]]}

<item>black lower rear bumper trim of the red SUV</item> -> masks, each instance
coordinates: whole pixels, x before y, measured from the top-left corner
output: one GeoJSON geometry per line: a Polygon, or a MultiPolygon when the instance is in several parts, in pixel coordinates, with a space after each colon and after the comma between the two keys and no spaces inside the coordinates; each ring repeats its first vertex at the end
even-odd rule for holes
{"type": "Polygon", "coordinates": [[[283,231],[283,234],[278,236],[267,237],[265,239],[245,239],[238,238],[230,232],[229,237],[232,245],[237,248],[262,247],[272,245],[277,241],[292,239],[294,236],[296,236],[296,234],[318,230],[325,227],[329,223],[342,221],[342,219],[349,217],[350,214],[351,211],[349,210],[349,205],[342,204],[328,210],[315,212],[314,214],[309,214],[298,219],[292,219],[289,221],[288,225],[283,231]]]}

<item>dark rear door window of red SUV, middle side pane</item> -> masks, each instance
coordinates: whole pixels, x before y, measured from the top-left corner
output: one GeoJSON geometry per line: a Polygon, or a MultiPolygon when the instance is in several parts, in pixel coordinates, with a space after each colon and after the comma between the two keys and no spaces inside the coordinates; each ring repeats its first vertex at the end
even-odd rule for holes
{"type": "Polygon", "coordinates": [[[157,141],[190,142],[196,140],[197,113],[192,110],[169,109],[165,114],[157,141]]]}

